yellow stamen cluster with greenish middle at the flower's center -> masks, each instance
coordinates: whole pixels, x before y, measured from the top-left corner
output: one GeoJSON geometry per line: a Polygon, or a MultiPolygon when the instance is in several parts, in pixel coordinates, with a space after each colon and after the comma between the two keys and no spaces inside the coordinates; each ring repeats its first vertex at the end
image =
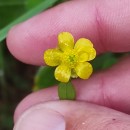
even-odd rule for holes
{"type": "Polygon", "coordinates": [[[73,50],[67,50],[63,53],[62,62],[68,65],[70,68],[74,68],[77,63],[77,54],[73,50]]]}

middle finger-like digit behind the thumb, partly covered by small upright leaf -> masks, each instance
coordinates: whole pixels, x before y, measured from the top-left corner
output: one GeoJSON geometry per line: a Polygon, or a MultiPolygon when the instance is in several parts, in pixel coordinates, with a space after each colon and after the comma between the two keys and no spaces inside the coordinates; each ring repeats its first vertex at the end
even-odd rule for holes
{"type": "MultiPolygon", "coordinates": [[[[107,106],[130,114],[129,66],[128,57],[111,69],[97,73],[88,80],[74,80],[76,100],[107,106]]],[[[16,121],[23,111],[33,105],[58,99],[57,87],[32,93],[19,104],[14,120],[16,121]]]]}

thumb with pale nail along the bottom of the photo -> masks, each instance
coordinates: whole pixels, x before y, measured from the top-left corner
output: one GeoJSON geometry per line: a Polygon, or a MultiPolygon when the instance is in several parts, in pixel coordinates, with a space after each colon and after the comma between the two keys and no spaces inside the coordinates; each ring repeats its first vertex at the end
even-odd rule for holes
{"type": "Polygon", "coordinates": [[[57,101],[33,106],[14,130],[129,130],[130,116],[84,102],[57,101]]]}

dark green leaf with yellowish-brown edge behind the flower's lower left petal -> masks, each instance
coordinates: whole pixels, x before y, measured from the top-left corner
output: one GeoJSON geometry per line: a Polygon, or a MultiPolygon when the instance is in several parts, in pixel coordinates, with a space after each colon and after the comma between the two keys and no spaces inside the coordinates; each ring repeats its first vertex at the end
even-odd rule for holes
{"type": "Polygon", "coordinates": [[[35,77],[35,86],[34,90],[47,88],[58,84],[59,82],[54,77],[54,67],[40,67],[35,77]]]}

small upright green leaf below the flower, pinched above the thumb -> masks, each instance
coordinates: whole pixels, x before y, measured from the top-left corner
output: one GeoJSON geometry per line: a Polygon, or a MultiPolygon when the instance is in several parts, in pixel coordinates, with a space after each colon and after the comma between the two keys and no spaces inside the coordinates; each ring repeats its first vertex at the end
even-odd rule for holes
{"type": "Polygon", "coordinates": [[[61,100],[75,100],[76,91],[71,82],[58,85],[58,95],[61,100]]]}

